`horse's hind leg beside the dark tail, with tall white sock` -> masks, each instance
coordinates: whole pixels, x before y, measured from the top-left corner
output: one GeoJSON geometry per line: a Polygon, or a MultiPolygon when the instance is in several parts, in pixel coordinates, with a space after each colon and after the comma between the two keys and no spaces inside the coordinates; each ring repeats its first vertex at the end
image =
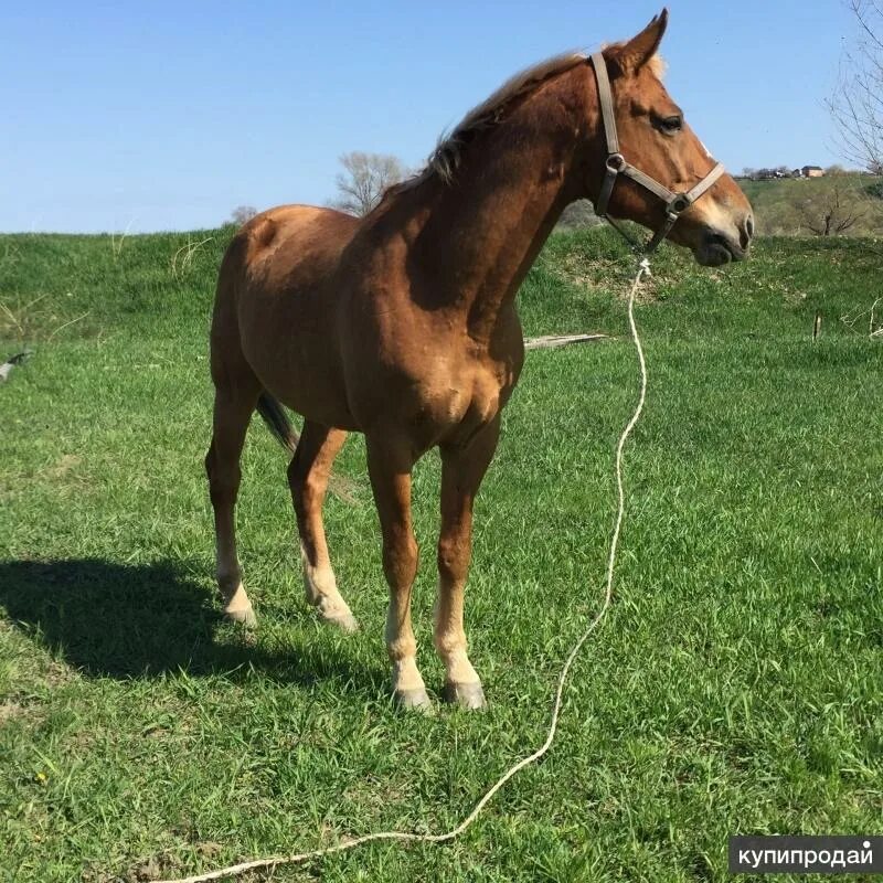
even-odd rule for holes
{"type": "Polygon", "coordinates": [[[300,442],[288,467],[288,481],[300,533],[307,600],[318,608],[326,621],[343,631],[355,631],[359,625],[338,592],[322,524],[322,502],[331,464],[345,439],[347,433],[342,429],[305,421],[300,442]]]}

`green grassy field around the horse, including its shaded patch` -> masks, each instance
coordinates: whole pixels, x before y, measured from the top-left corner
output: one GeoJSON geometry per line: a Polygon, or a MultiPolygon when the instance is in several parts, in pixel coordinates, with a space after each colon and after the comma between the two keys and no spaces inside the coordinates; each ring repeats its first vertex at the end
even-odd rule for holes
{"type": "MultiPolygon", "coordinates": [[[[223,624],[202,458],[228,235],[0,237],[0,354],[34,351],[0,385],[3,881],[134,883],[450,827],[542,741],[600,603],[638,381],[629,264],[605,230],[556,234],[520,298],[529,334],[616,340],[529,353],[508,408],[467,598],[488,711],[387,699],[359,437],[339,469],[360,502],[330,500],[327,526],[363,630],[307,608],[285,456],[258,421],[238,521],[260,625],[223,624]]],[[[727,269],[671,247],[655,266],[615,603],[555,747],[453,844],[372,845],[274,881],[725,881],[733,832],[880,832],[883,343],[866,317],[840,321],[882,294],[880,258],[766,240],[727,269]]],[[[415,628],[436,690],[438,472],[430,455],[415,480],[415,628]]]]}

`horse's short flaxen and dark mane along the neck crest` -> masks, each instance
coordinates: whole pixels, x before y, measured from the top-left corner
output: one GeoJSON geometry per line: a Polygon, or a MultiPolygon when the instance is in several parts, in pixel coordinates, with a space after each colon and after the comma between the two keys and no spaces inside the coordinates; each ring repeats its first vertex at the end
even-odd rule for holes
{"type": "MultiPolygon", "coordinates": [[[[616,49],[619,45],[621,44],[614,43],[605,45],[604,49],[616,49]]],[[[563,74],[565,71],[570,71],[587,60],[588,55],[584,52],[563,52],[511,76],[481,104],[474,107],[450,132],[442,136],[435,150],[429,155],[426,166],[421,171],[412,178],[394,184],[387,193],[393,194],[411,189],[432,177],[437,177],[445,183],[450,183],[460,163],[464,147],[471,135],[479,129],[498,123],[506,107],[514,99],[533,92],[550,77],[563,74]]],[[[666,67],[662,58],[659,55],[655,55],[649,60],[648,65],[653,74],[661,79],[666,67]]]]}

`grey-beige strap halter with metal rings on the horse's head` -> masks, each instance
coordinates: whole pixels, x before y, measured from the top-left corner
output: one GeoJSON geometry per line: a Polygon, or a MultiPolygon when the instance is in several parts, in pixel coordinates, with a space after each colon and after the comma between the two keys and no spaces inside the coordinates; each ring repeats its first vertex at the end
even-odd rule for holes
{"type": "Polygon", "coordinates": [[[610,79],[607,76],[607,62],[600,52],[592,56],[592,66],[595,68],[595,78],[598,83],[598,99],[600,113],[604,118],[604,135],[607,138],[607,162],[605,163],[604,182],[600,187],[598,201],[595,203],[595,214],[607,221],[625,238],[636,252],[652,254],[662,240],[669,235],[678,219],[685,212],[711,185],[724,173],[723,163],[719,162],[692,190],[685,193],[675,193],[663,187],[649,174],[626,161],[619,152],[619,139],[616,135],[616,117],[614,116],[614,96],[610,89],[610,79]],[[655,193],[666,203],[666,222],[653,234],[650,241],[641,247],[619,224],[607,214],[607,203],[614,192],[616,179],[625,174],[636,183],[655,193]]]}

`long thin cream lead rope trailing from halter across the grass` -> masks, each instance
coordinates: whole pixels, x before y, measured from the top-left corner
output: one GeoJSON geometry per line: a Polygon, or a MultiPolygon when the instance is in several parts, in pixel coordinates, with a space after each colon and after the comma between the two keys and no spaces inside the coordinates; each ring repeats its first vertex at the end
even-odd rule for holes
{"type": "Polygon", "coordinates": [[[616,489],[619,504],[617,507],[616,521],[614,522],[613,536],[610,538],[610,553],[607,557],[607,584],[604,593],[604,604],[602,604],[600,609],[588,624],[588,627],[576,641],[573,650],[571,650],[570,655],[567,656],[567,660],[564,662],[564,668],[561,670],[561,674],[558,675],[558,684],[555,691],[555,702],[552,706],[552,720],[549,725],[549,734],[546,735],[543,744],[533,754],[523,757],[517,764],[511,766],[506,773],[503,773],[503,775],[500,776],[500,778],[493,785],[491,785],[490,788],[488,788],[488,790],[485,792],[485,796],[476,804],[472,811],[456,828],[451,828],[445,833],[418,834],[411,831],[377,831],[373,834],[364,834],[362,837],[344,839],[340,843],[337,843],[332,847],[316,849],[311,850],[310,852],[300,852],[296,855],[275,855],[268,859],[255,859],[248,862],[241,862],[240,864],[231,864],[228,868],[222,868],[219,871],[211,871],[205,874],[195,874],[194,876],[181,877],[178,880],[161,880],[158,881],[158,883],[206,883],[206,881],[210,880],[221,880],[225,876],[244,874],[246,871],[256,871],[260,869],[273,870],[284,864],[300,864],[301,862],[309,861],[310,859],[320,859],[323,855],[331,855],[334,852],[344,852],[345,850],[360,847],[363,843],[370,843],[379,840],[397,840],[412,843],[444,843],[448,840],[454,840],[478,818],[481,810],[485,809],[485,807],[493,798],[493,795],[496,795],[497,791],[499,791],[500,788],[502,788],[503,785],[509,781],[509,779],[524,769],[525,766],[530,766],[539,760],[552,747],[552,743],[555,740],[555,733],[557,732],[558,727],[558,717],[561,716],[561,703],[564,696],[564,685],[567,681],[567,675],[571,672],[571,667],[579,653],[579,650],[582,650],[583,645],[588,640],[589,635],[592,635],[600,620],[604,618],[605,614],[610,607],[610,600],[613,598],[614,567],[616,565],[616,553],[619,546],[619,532],[623,526],[623,515],[626,509],[626,494],[623,489],[623,449],[626,446],[626,440],[628,439],[629,435],[631,435],[631,430],[635,428],[638,419],[641,416],[643,403],[647,398],[647,363],[643,359],[643,348],[641,347],[641,340],[638,336],[638,327],[635,325],[635,296],[638,294],[641,279],[645,276],[651,276],[650,262],[647,257],[643,257],[638,264],[638,272],[635,275],[635,281],[632,283],[631,291],[628,296],[628,325],[631,331],[631,340],[634,341],[635,349],[638,353],[638,364],[640,365],[641,370],[641,386],[635,413],[631,415],[631,419],[629,419],[629,422],[626,424],[626,428],[623,429],[623,435],[619,436],[619,443],[616,446],[616,489]]]}

